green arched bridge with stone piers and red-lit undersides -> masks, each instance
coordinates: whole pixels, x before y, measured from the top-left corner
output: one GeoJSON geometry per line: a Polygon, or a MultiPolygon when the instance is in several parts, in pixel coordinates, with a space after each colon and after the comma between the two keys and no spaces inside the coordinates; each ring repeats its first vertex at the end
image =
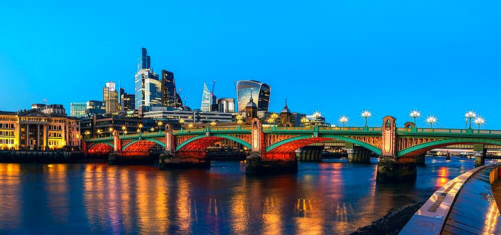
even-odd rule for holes
{"type": "Polygon", "coordinates": [[[397,127],[395,118],[386,116],[381,127],[277,127],[263,126],[258,118],[250,126],[216,127],[118,135],[85,139],[86,153],[110,154],[110,160],[145,155],[155,145],[164,148],[161,167],[209,167],[206,148],[230,139],[241,143],[251,154],[246,173],[296,172],[295,150],[313,143],[342,140],[350,161],[368,160],[367,152],[378,154],[378,180],[407,180],[416,177],[416,163],[424,163],[427,151],[454,144],[472,144],[475,165],[483,165],[486,148],[501,145],[501,130],[418,128],[412,122],[397,127]]]}

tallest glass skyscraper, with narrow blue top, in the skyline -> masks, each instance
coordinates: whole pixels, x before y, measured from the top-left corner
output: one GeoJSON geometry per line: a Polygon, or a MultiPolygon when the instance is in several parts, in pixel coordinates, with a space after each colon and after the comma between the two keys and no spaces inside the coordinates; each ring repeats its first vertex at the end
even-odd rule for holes
{"type": "Polygon", "coordinates": [[[134,76],[135,107],[161,106],[162,83],[158,79],[158,74],[150,68],[150,56],[146,48],[141,48],[137,68],[134,76]]]}

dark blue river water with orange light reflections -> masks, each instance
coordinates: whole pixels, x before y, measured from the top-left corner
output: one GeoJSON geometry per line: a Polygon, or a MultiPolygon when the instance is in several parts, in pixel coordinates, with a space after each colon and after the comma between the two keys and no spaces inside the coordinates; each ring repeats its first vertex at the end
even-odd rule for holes
{"type": "MultiPolygon", "coordinates": [[[[486,163],[488,163],[487,161],[486,163]]],[[[376,183],[377,159],[303,163],[290,175],[245,176],[153,165],[0,164],[0,233],[349,233],[421,201],[473,159],[426,157],[413,183],[376,183]]]]}

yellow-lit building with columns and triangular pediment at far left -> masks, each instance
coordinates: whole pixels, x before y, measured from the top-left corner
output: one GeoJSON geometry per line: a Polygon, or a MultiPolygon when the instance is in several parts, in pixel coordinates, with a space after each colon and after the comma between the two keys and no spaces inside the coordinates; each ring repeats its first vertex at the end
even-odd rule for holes
{"type": "Polygon", "coordinates": [[[80,146],[80,120],[51,116],[38,109],[0,111],[0,149],[53,150],[80,146]]]}

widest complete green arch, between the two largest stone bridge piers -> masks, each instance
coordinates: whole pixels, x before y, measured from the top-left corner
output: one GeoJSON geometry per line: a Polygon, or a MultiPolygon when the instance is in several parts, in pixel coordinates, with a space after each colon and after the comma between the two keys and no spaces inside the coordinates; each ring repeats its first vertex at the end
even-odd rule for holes
{"type": "Polygon", "coordinates": [[[378,155],[381,155],[381,148],[371,145],[369,143],[360,141],[358,139],[342,136],[342,135],[334,135],[334,134],[322,134],[319,137],[312,137],[312,135],[299,135],[292,138],[284,139],[278,141],[266,148],[266,152],[274,152],[274,151],[282,151],[282,152],[290,152],[295,149],[304,147],[308,144],[323,142],[325,140],[338,139],[347,142],[351,142],[354,144],[358,144],[362,147],[365,147],[378,155]]]}

